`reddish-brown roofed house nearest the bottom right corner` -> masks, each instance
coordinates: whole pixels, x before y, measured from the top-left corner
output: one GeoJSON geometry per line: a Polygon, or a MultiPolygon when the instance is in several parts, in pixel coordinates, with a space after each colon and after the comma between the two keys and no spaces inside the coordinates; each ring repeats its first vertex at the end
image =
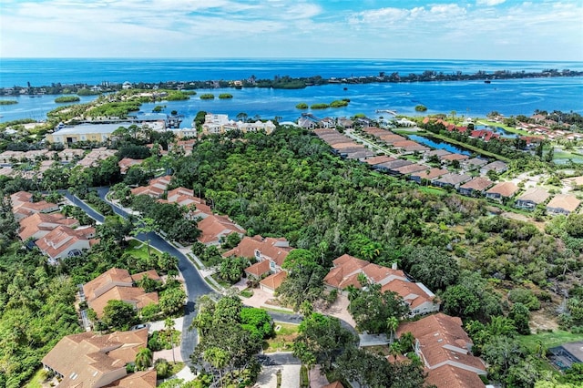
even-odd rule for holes
{"type": "MultiPolygon", "coordinates": [[[[443,372],[443,369],[439,369],[444,366],[455,368],[455,372],[459,370],[486,374],[484,362],[470,352],[473,343],[467,333],[464,332],[460,318],[450,317],[438,312],[416,322],[402,323],[397,329],[397,336],[400,337],[405,332],[411,332],[414,335],[414,352],[424,363],[424,367],[430,376],[429,379],[431,379],[432,373],[435,372],[437,372],[434,377],[435,381],[439,380],[439,376],[448,373],[447,371],[443,372]]],[[[470,381],[467,377],[469,374],[460,373],[461,376],[464,376],[464,379],[468,379],[468,382],[470,381]]],[[[473,384],[461,386],[472,388],[484,386],[477,374],[477,379],[471,380],[473,384]]]]}

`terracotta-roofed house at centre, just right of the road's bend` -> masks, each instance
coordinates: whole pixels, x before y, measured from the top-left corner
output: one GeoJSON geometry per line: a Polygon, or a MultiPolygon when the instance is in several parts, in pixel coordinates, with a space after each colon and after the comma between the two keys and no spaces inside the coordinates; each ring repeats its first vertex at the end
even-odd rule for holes
{"type": "Polygon", "coordinates": [[[254,258],[257,260],[245,272],[252,277],[261,278],[268,273],[281,271],[281,265],[293,249],[288,240],[272,237],[263,238],[260,235],[243,237],[232,250],[223,253],[223,257],[254,258]]]}

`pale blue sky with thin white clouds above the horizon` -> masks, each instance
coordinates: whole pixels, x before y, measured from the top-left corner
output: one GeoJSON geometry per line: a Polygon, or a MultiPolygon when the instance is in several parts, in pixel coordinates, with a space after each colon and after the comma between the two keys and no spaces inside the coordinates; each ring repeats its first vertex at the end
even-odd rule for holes
{"type": "Polygon", "coordinates": [[[5,57],[583,60],[583,0],[2,0],[5,57]]]}

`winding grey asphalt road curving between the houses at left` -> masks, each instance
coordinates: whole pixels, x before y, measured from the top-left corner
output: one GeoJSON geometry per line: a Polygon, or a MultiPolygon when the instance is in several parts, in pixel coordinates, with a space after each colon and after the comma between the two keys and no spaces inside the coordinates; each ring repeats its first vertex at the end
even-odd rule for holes
{"type": "MultiPolygon", "coordinates": [[[[97,189],[97,193],[99,197],[105,199],[107,194],[108,188],[100,188],[97,189]]],[[[97,213],[94,209],[91,209],[87,204],[80,201],[68,191],[65,193],[66,198],[71,200],[75,205],[79,208],[85,210],[87,214],[94,218],[95,220],[102,222],[103,216],[97,213]]],[[[128,213],[123,209],[119,209],[116,206],[112,206],[116,214],[127,218],[128,213]]],[[[161,250],[163,252],[169,252],[172,256],[175,256],[179,260],[179,271],[182,273],[182,277],[184,278],[184,283],[186,286],[186,291],[188,294],[188,301],[185,308],[185,315],[184,315],[184,322],[182,324],[182,342],[180,344],[180,354],[182,355],[183,360],[189,360],[190,354],[194,351],[194,347],[197,343],[197,332],[195,330],[189,330],[190,324],[194,320],[196,315],[195,311],[195,301],[199,298],[199,296],[214,293],[214,291],[210,288],[204,279],[199,274],[199,271],[195,268],[194,264],[187,258],[185,255],[182,254],[179,250],[177,250],[173,245],[171,245],[168,241],[162,239],[157,233],[150,232],[148,236],[144,233],[138,234],[136,238],[141,241],[145,241],[149,239],[149,243],[152,247],[156,248],[157,250],[161,250]]]]}

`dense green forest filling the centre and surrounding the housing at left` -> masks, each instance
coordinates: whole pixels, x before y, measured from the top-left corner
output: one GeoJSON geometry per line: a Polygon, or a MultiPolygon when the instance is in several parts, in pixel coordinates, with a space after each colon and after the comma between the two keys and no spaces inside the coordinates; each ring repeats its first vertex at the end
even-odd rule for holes
{"type": "MultiPolygon", "coordinates": [[[[131,146],[119,149],[127,152],[131,146]]],[[[325,297],[323,276],[332,260],[344,253],[389,267],[396,262],[435,291],[446,313],[464,320],[477,354],[501,365],[492,370],[492,378],[514,384],[508,386],[531,387],[539,380],[557,378],[517,340],[529,332],[532,314],[545,314],[573,332],[583,326],[583,288],[578,286],[583,216],[557,217],[546,229],[507,220],[492,215],[484,199],[435,192],[334,157],[321,140],[298,128],[278,128],[271,136],[238,132],[210,136],[198,141],[190,156],[149,158],[125,178],[118,174],[115,158],[95,168],[50,169],[50,178],[39,183],[40,189],[71,188],[87,196],[89,188],[98,184],[143,183],[152,176],[152,164],[170,168],[169,189],[191,188],[249,236],[285,237],[292,247],[302,249],[305,265],[281,286],[283,299],[297,309],[305,301],[325,297]],[[569,298],[559,313],[563,293],[569,298]],[[500,362],[498,355],[510,347],[521,356],[500,362]]],[[[22,179],[0,181],[3,198],[18,189],[36,188],[22,179]]],[[[148,214],[168,225],[167,231],[178,225],[173,220],[182,220],[177,209],[154,207],[149,199],[133,201],[143,213],[161,212],[148,214]]],[[[94,249],[49,266],[38,251],[22,248],[11,214],[4,201],[0,386],[20,386],[62,336],[80,331],[74,309],[77,284],[114,266],[132,272],[166,266],[124,255],[119,237],[130,235],[132,226],[114,219],[98,228],[101,242],[94,249]]],[[[199,233],[192,223],[179,227],[177,240],[190,241],[199,233]]],[[[366,310],[367,303],[376,302],[371,295],[354,295],[354,305],[366,310]]],[[[363,325],[387,332],[386,317],[376,319],[383,322],[363,325]]],[[[354,351],[345,360],[361,356],[354,351]]]]}

